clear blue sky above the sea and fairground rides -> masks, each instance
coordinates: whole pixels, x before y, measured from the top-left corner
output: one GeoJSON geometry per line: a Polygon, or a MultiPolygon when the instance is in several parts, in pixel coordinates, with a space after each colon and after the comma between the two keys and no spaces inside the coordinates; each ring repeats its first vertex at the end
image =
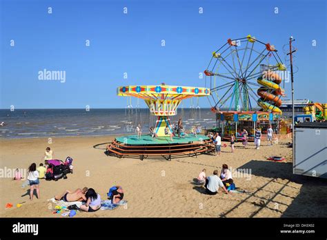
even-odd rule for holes
{"type": "MultiPolygon", "coordinates": [[[[323,0],[1,0],[0,16],[0,108],[124,108],[117,86],[204,86],[199,72],[212,51],[247,34],[274,44],[283,61],[292,35],[295,98],[327,101],[323,0]],[[66,82],[40,81],[44,68],[66,71],[66,82]]],[[[290,83],[286,94],[290,98],[290,83]]],[[[206,98],[200,103],[210,106],[206,98]]]]}

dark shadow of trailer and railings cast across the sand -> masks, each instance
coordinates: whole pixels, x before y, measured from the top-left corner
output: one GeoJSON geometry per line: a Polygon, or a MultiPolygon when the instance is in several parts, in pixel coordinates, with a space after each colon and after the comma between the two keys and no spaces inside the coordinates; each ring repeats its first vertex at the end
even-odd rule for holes
{"type": "Polygon", "coordinates": [[[269,199],[261,198],[262,200],[259,208],[255,210],[255,212],[252,212],[248,217],[256,217],[256,215],[263,209],[280,212],[279,210],[268,208],[268,203],[279,203],[287,206],[286,210],[281,212],[281,217],[326,217],[327,179],[295,175],[293,174],[293,163],[251,160],[238,168],[238,170],[245,169],[251,170],[251,174],[255,176],[270,178],[270,180],[268,180],[268,182],[263,186],[257,188],[255,192],[249,194],[246,199],[238,203],[236,206],[224,212],[224,214],[221,214],[221,217],[228,217],[230,212],[238,208],[242,203],[248,201],[250,197],[258,197],[257,192],[261,190],[266,191],[264,188],[266,188],[270,183],[278,183],[278,181],[276,181],[278,178],[288,181],[286,181],[286,183],[279,183],[279,189],[272,192],[273,195],[269,199]],[[287,192],[284,190],[286,187],[295,188],[289,185],[291,182],[302,185],[299,189],[299,194],[297,194],[296,197],[288,196],[287,192]],[[292,203],[286,205],[285,203],[276,201],[275,197],[280,195],[293,199],[292,203]]]}

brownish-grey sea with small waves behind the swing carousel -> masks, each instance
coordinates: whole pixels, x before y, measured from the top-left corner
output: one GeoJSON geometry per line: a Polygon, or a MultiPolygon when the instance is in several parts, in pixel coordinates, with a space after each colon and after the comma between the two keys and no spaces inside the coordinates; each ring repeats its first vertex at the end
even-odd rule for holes
{"type": "MultiPolygon", "coordinates": [[[[215,114],[209,108],[179,108],[172,123],[182,117],[186,130],[199,124],[203,128],[215,126],[215,114]]],[[[137,123],[143,132],[155,126],[157,117],[148,109],[28,109],[0,110],[0,138],[37,138],[66,136],[100,136],[134,134],[137,123]]]]}

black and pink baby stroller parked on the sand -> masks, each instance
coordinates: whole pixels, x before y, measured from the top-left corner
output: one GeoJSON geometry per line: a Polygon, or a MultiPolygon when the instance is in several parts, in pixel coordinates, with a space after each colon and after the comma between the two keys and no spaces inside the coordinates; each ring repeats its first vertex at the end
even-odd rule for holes
{"type": "Polygon", "coordinates": [[[70,158],[71,161],[69,162],[67,161],[67,159],[65,162],[58,159],[48,160],[49,166],[46,170],[46,180],[58,181],[61,178],[67,179],[66,174],[71,172],[70,166],[72,164],[72,158],[70,158]]]}

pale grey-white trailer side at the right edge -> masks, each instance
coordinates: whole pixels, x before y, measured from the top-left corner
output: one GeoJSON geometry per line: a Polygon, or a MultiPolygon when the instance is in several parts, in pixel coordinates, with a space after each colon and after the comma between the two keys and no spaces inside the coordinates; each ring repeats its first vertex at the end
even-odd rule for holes
{"type": "Polygon", "coordinates": [[[327,178],[327,122],[295,126],[293,174],[327,178]]]}

